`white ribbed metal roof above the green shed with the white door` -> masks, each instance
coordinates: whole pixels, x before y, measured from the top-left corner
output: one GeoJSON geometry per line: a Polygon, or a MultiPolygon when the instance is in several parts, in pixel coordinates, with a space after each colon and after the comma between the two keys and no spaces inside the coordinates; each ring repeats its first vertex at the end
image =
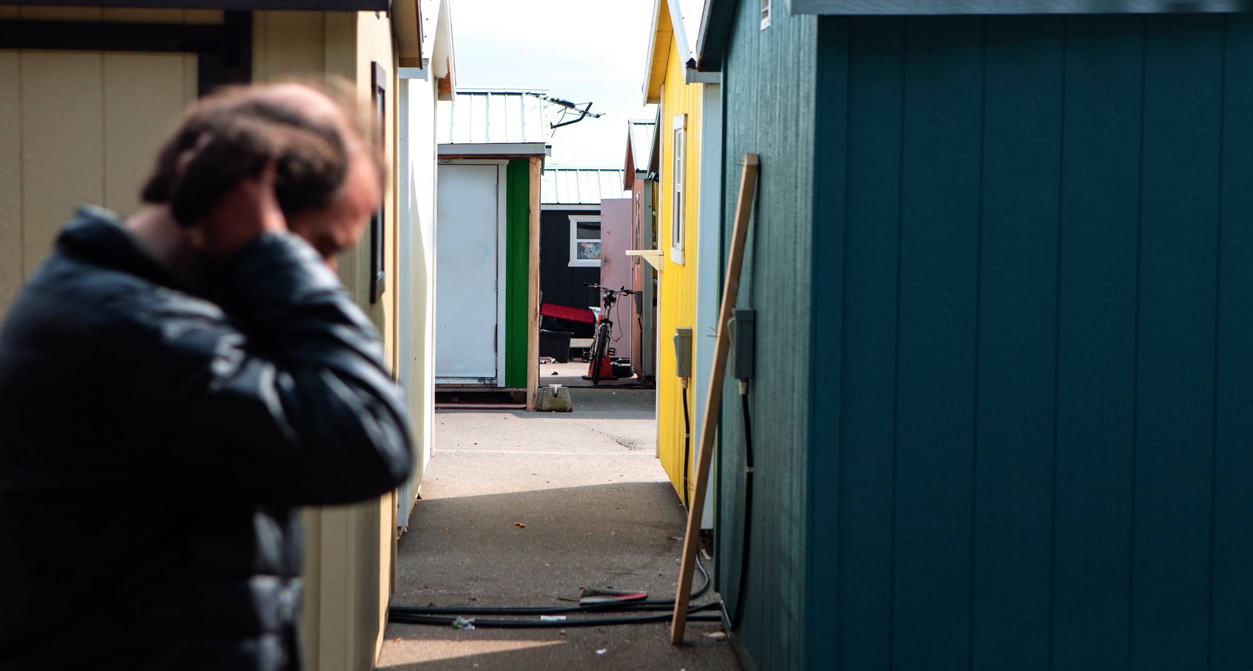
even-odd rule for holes
{"type": "Polygon", "coordinates": [[[436,108],[440,154],[535,154],[549,145],[544,89],[457,89],[436,108]]]}

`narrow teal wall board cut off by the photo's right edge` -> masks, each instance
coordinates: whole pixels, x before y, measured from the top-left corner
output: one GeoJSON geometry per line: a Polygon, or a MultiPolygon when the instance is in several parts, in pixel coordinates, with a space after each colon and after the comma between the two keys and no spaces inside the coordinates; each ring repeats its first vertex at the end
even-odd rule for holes
{"type": "Polygon", "coordinates": [[[1227,25],[1214,399],[1210,668],[1253,660],[1253,16],[1227,25]]]}

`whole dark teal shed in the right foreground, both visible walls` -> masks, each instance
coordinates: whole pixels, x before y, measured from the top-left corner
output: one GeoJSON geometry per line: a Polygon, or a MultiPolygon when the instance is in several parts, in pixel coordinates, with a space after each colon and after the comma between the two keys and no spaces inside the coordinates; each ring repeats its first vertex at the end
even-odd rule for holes
{"type": "Polygon", "coordinates": [[[747,667],[1253,665],[1249,9],[707,1],[747,667]]]}

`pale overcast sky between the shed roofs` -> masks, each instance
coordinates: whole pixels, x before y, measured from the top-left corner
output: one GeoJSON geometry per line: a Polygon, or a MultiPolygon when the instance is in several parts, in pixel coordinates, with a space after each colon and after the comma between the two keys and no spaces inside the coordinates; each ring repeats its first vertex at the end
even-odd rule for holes
{"type": "MultiPolygon", "coordinates": [[[[605,113],[559,128],[549,165],[621,168],[640,105],[653,0],[452,0],[457,86],[548,89],[605,113]]],[[[549,108],[550,120],[559,108],[549,108]]]]}

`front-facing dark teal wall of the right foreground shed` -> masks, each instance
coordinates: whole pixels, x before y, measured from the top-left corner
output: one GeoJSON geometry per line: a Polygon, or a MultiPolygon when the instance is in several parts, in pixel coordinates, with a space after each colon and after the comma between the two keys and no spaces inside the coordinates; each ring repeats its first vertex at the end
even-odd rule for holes
{"type": "Polygon", "coordinates": [[[812,447],[840,453],[814,501],[840,526],[808,552],[842,560],[811,598],[836,602],[843,667],[1247,663],[1250,398],[1217,377],[1248,320],[1223,288],[1253,277],[1219,263],[1253,225],[1223,212],[1253,153],[1224,133],[1247,21],[822,20],[819,71],[848,84],[819,109],[850,113],[816,189],[843,235],[816,235],[814,287],[843,304],[812,303],[842,353],[814,406],[842,422],[812,447]]]}

